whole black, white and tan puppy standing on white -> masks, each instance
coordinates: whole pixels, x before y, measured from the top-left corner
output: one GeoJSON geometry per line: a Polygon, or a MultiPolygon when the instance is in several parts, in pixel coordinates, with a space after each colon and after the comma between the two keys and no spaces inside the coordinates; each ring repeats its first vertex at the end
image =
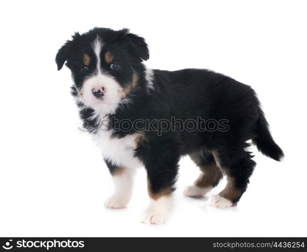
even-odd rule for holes
{"type": "Polygon", "coordinates": [[[65,62],[71,70],[84,128],[113,177],[106,207],[127,206],[135,169],[144,166],[150,205],[142,222],[165,222],[183,155],[201,170],[186,196],[203,197],[224,174],[226,187],[207,204],[235,205],[256,165],[250,142],[270,158],[283,157],[255,91],[209,70],[151,70],[142,63],[148,58],[144,38],[106,28],[75,33],[55,58],[58,70],[65,62]]]}

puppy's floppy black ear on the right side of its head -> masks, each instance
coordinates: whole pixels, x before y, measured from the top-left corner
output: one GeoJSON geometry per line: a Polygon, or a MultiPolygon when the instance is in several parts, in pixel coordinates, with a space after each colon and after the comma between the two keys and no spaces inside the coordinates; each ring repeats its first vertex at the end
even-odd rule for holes
{"type": "Polygon", "coordinates": [[[135,53],[144,60],[149,59],[149,50],[145,39],[139,37],[136,34],[130,33],[128,29],[123,29],[123,31],[125,31],[127,34],[128,40],[130,41],[130,44],[132,46],[131,49],[133,53],[135,53]]]}

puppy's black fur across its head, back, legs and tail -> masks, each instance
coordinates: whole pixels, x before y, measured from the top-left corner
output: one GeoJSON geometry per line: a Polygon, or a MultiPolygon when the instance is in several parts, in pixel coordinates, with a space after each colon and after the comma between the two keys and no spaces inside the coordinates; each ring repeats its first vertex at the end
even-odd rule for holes
{"type": "MultiPolygon", "coordinates": [[[[122,69],[117,72],[108,70],[108,74],[123,87],[132,80],[134,72],[139,76],[137,88],[129,94],[131,102],[119,106],[109,118],[171,121],[171,117],[175,117],[186,121],[201,117],[228,121],[227,131],[181,132],[177,124],[175,131],[162,132],[161,136],[155,131],[146,131],[146,143],[135,149],[135,156],[145,165],[153,194],[159,194],[167,188],[174,190],[178,161],[182,155],[203,151],[204,157],[212,161],[211,152],[215,151],[220,165],[225,168],[228,176],[235,179],[235,186],[241,194],[246,190],[256,165],[253,156],[247,151],[247,141],[253,140],[263,154],[277,161],[283,156],[269,132],[255,91],[248,85],[209,70],[154,70],[154,91],[148,92],[145,67],[142,64],[142,59],[149,58],[148,47],[143,38],[129,33],[127,29],[113,31],[95,28],[82,35],[76,33],[71,41],[59,49],[56,55],[57,68],[60,70],[67,61],[75,82],[72,88],[74,96],[78,95],[77,90],[82,87],[85,78],[94,71],[83,74],[80,68],[84,52],[92,57],[91,64],[95,66],[90,45],[97,35],[103,40],[104,47],[121,60],[122,69]]],[[[103,61],[101,68],[107,69],[103,61]]],[[[94,110],[84,107],[82,103],[79,106],[84,127],[91,133],[97,132],[99,124],[91,118],[94,110]]],[[[157,126],[157,123],[154,125],[157,126]]],[[[115,126],[116,122],[109,125],[111,129],[115,126]]],[[[113,135],[121,138],[135,132],[134,129],[128,132],[116,131],[113,135]]],[[[113,173],[116,167],[106,162],[113,173]]],[[[206,164],[206,159],[203,162],[206,164]]],[[[237,202],[241,194],[233,202],[237,202]]]]}

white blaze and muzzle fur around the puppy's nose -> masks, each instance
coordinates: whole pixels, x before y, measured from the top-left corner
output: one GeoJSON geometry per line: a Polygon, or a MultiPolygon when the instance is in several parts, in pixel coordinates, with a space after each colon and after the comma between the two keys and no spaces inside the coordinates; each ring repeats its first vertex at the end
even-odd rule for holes
{"type": "Polygon", "coordinates": [[[92,107],[101,113],[112,113],[116,110],[122,97],[122,87],[118,84],[114,77],[104,74],[101,69],[101,51],[103,47],[102,41],[97,37],[92,45],[96,55],[96,71],[95,74],[88,77],[81,90],[82,100],[85,105],[92,107]],[[104,89],[104,95],[99,99],[93,94],[93,89],[104,89]]]}

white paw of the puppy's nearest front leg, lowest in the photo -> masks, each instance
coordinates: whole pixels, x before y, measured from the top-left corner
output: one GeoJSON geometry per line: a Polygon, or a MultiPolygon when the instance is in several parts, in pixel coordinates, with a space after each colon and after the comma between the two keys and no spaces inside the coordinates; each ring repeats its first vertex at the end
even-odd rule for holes
{"type": "Polygon", "coordinates": [[[144,211],[141,222],[145,224],[163,224],[169,216],[171,200],[169,197],[161,197],[151,200],[149,207],[144,211]]]}

